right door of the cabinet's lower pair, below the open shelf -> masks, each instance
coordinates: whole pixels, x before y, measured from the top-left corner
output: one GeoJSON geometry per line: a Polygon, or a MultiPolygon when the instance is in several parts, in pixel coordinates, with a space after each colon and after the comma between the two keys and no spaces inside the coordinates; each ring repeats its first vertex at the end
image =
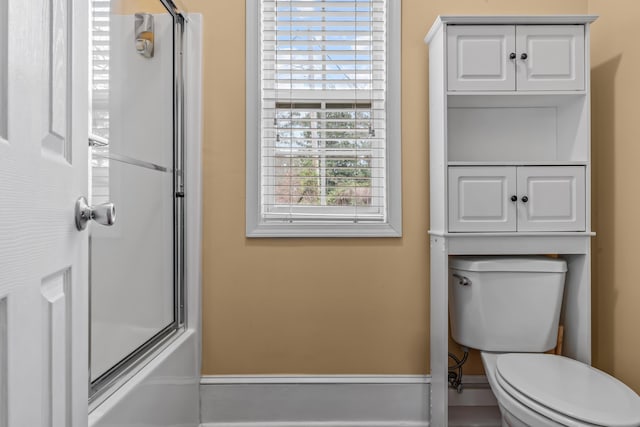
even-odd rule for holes
{"type": "Polygon", "coordinates": [[[518,168],[518,231],[584,229],[584,166],[518,168]]]}

